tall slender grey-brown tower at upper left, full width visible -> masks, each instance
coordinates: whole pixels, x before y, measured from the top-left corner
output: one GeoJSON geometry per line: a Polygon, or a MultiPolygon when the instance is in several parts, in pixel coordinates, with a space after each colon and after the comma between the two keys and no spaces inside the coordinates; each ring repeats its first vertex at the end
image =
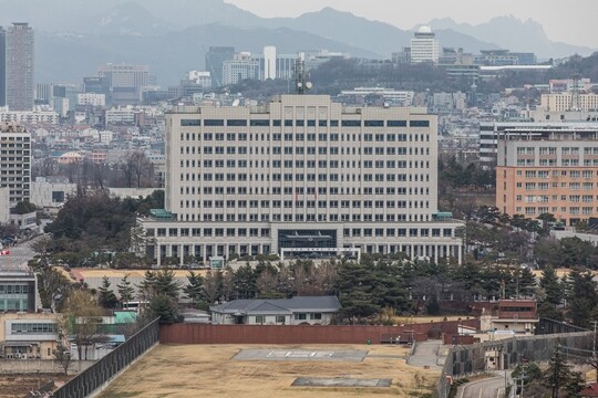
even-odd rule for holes
{"type": "Polygon", "coordinates": [[[31,111],[35,92],[33,29],[14,22],[6,33],[6,97],[11,111],[31,111]]]}

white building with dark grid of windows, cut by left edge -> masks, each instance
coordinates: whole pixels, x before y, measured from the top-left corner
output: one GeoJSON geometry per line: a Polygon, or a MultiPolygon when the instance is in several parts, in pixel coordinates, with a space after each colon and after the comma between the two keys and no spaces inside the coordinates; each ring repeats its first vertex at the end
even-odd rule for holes
{"type": "Polygon", "coordinates": [[[29,200],[31,184],[31,134],[16,123],[0,125],[0,187],[10,189],[13,207],[29,200]]]}

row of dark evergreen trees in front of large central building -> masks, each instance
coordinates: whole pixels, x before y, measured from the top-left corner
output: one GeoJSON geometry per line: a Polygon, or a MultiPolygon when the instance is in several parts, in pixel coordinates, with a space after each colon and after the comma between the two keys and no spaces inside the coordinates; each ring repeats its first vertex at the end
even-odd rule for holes
{"type": "MultiPolygon", "coordinates": [[[[130,282],[117,285],[120,300],[130,282]]],[[[338,295],[342,318],[363,320],[384,308],[396,313],[439,314],[443,302],[471,302],[499,297],[525,297],[536,292],[535,277],[528,269],[480,268],[465,265],[412,262],[394,258],[364,255],[357,261],[324,261],[318,266],[298,260],[288,265],[259,262],[237,270],[208,271],[205,275],[188,272],[187,282],[178,283],[169,269],[148,270],[137,286],[137,298],[148,302],[156,296],[167,297],[176,308],[176,298],[184,294],[195,307],[237,298],[281,298],[295,295],[338,295]]],[[[116,305],[110,282],[104,280],[99,301],[105,307],[116,305]]],[[[165,302],[166,300],[162,300],[165,302]]],[[[176,311],[169,318],[176,317],[176,311]]]]}

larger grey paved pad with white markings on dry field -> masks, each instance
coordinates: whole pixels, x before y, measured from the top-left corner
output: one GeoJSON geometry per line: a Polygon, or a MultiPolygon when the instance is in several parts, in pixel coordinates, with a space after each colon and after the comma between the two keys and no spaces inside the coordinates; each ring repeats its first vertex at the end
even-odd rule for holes
{"type": "Polygon", "coordinates": [[[350,360],[362,362],[365,350],[241,349],[235,360],[350,360]]]}

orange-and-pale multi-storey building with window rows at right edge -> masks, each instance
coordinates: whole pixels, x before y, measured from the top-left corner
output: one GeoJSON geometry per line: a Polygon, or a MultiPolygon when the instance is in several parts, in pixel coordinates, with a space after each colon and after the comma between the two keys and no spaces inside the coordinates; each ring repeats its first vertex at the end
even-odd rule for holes
{"type": "Polygon", "coordinates": [[[598,214],[598,128],[498,139],[496,207],[511,216],[553,213],[566,226],[598,214]]]}

